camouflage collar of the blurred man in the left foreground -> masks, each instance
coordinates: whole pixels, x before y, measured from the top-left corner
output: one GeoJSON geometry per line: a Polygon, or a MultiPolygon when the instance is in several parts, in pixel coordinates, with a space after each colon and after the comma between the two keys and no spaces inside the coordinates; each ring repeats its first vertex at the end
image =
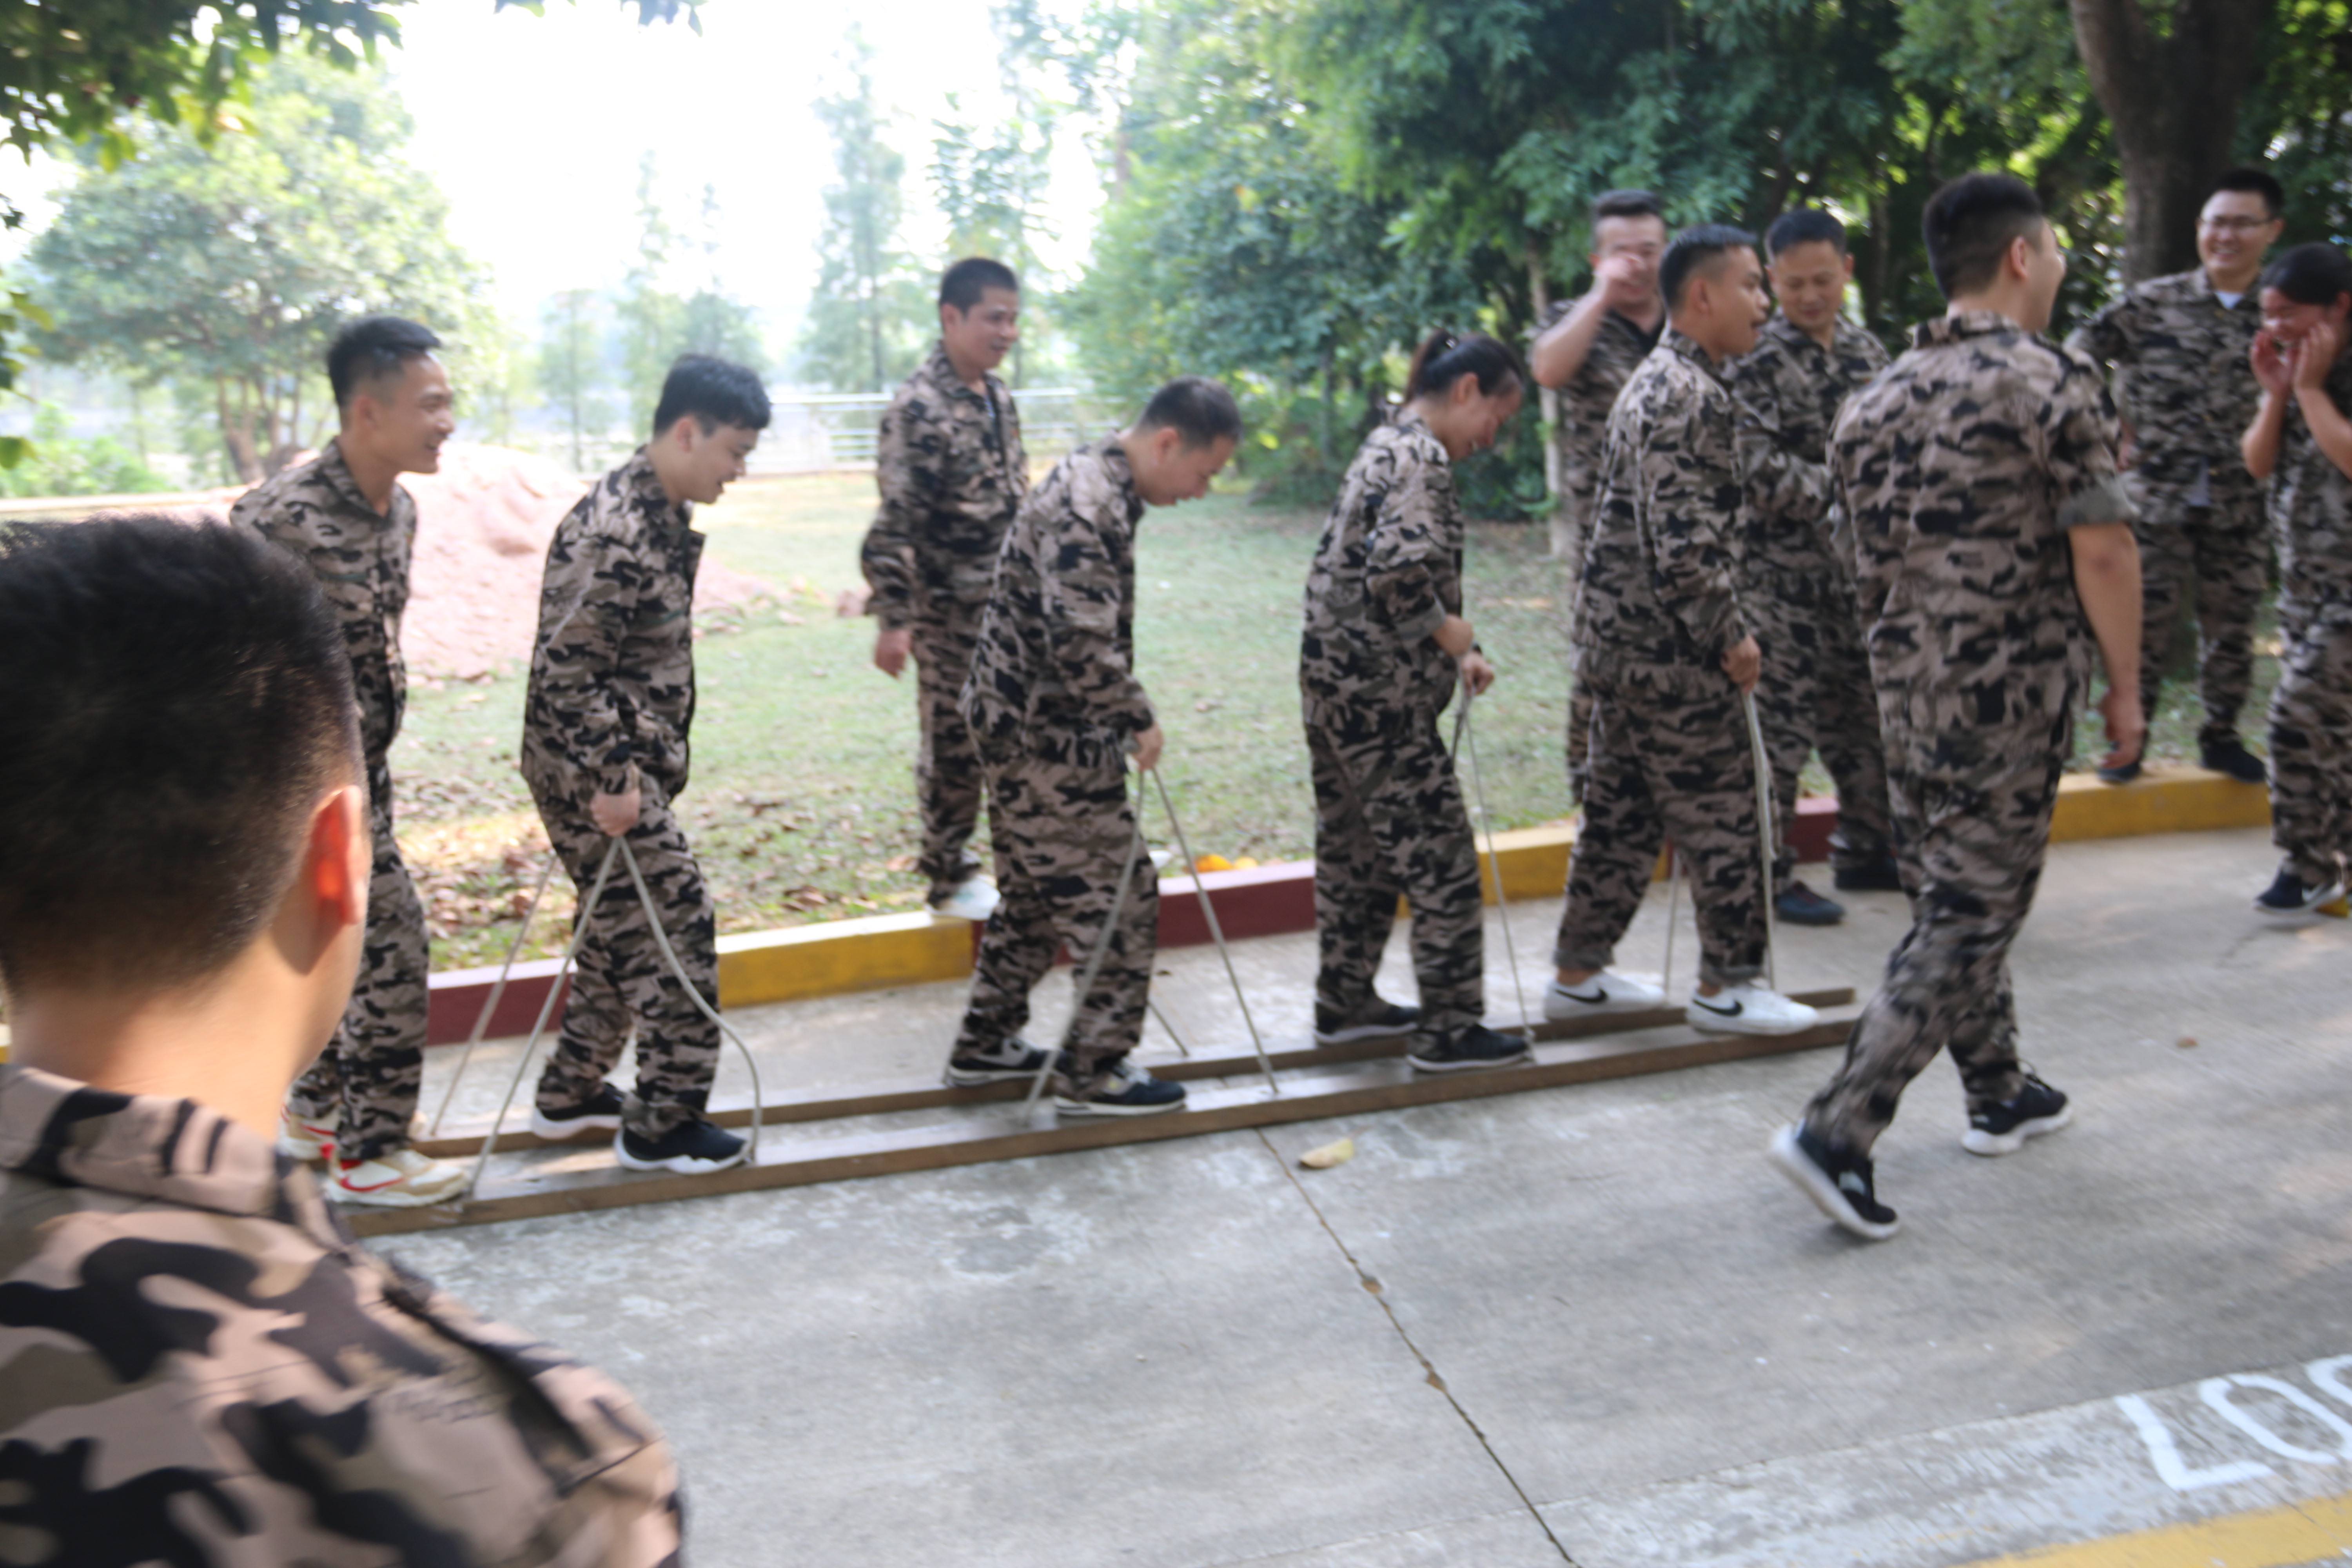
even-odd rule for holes
{"type": "Polygon", "coordinates": [[[125,1095],[0,1065],[0,1171],[179,1208],[261,1215],[341,1246],[318,1180],[195,1100],[125,1095]]]}

